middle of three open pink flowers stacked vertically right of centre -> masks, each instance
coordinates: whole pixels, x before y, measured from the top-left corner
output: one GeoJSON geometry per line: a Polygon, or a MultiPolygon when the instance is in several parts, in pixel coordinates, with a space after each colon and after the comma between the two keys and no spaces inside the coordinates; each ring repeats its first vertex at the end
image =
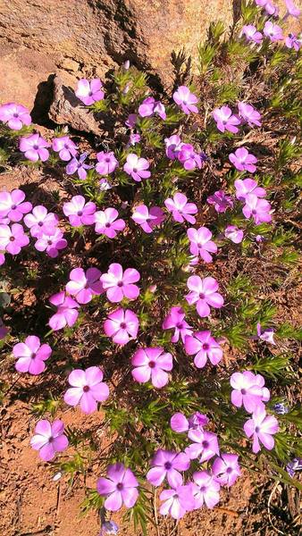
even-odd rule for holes
{"type": "Polygon", "coordinates": [[[197,313],[202,318],[209,316],[210,306],[215,309],[223,306],[223,297],[217,292],[219,285],[213,277],[201,279],[198,275],[191,275],[187,281],[187,287],[190,292],[186,300],[190,306],[197,304],[197,313]]]}

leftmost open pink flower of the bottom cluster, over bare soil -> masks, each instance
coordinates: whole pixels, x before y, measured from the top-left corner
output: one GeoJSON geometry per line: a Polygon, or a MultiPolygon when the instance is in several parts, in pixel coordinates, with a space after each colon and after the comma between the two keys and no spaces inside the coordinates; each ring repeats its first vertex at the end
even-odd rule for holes
{"type": "Polygon", "coordinates": [[[138,481],[130,469],[120,463],[107,467],[107,477],[96,482],[96,489],[102,497],[106,497],[106,510],[116,512],[122,505],[134,507],[138,499],[138,481]]]}

